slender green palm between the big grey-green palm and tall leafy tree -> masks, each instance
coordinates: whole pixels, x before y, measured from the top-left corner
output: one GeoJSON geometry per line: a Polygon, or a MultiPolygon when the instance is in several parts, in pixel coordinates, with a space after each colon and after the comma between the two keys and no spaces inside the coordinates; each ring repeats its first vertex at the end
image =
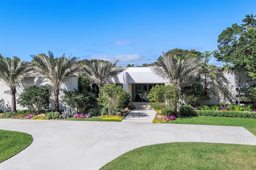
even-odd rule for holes
{"type": "Polygon", "coordinates": [[[210,59],[214,55],[214,51],[205,51],[203,53],[202,61],[200,62],[200,70],[198,71],[198,77],[197,80],[200,81],[200,79],[204,80],[204,95],[207,95],[207,87],[208,82],[210,79],[214,80],[214,83],[217,83],[217,76],[220,75],[221,77],[218,77],[220,81],[222,81],[223,78],[223,72],[220,69],[220,67],[216,65],[209,65],[210,59]]]}

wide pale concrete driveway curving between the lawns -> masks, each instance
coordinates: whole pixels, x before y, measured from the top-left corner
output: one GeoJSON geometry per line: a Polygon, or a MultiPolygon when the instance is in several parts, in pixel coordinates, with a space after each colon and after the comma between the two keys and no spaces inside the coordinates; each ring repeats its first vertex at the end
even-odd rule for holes
{"type": "Polygon", "coordinates": [[[248,130],[229,126],[0,119],[0,129],[33,136],[1,170],[94,170],[134,148],[165,142],[256,145],[248,130]]]}

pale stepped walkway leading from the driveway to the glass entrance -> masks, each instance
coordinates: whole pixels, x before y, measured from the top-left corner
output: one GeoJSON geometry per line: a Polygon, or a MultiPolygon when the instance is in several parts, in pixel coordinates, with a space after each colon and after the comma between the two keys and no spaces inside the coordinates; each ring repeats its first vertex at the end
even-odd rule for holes
{"type": "Polygon", "coordinates": [[[156,112],[150,109],[148,103],[140,102],[134,103],[136,109],[129,113],[122,122],[134,123],[152,123],[156,116],[156,112]]]}

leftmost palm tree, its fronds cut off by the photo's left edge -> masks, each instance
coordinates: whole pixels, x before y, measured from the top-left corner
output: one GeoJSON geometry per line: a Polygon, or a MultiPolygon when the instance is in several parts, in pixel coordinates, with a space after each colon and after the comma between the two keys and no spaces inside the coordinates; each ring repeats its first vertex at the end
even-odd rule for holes
{"type": "Polygon", "coordinates": [[[10,87],[12,95],[12,112],[16,112],[16,88],[31,73],[29,64],[18,57],[0,58],[0,79],[10,87]]]}

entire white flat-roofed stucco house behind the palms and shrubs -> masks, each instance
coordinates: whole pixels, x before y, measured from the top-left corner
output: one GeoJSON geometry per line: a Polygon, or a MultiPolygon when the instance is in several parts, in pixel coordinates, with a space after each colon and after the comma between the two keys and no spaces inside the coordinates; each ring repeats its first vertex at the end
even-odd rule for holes
{"type": "MultiPolygon", "coordinates": [[[[232,92],[237,94],[238,91],[238,78],[237,73],[234,75],[225,74],[226,79],[230,82],[230,85],[234,85],[232,92]]],[[[241,75],[241,86],[242,89],[247,89],[250,85],[256,84],[256,81],[248,83],[248,78],[245,73],[241,75]]],[[[132,95],[132,102],[147,102],[147,95],[150,93],[150,89],[156,84],[167,85],[168,82],[162,78],[155,75],[150,67],[128,67],[122,73],[117,75],[112,79],[113,83],[122,85],[123,89],[132,95]]],[[[191,81],[193,82],[193,81],[191,81]]],[[[47,79],[38,79],[36,77],[28,77],[22,81],[21,87],[17,89],[16,99],[18,99],[19,94],[22,93],[23,89],[30,87],[32,85],[46,85],[49,84],[47,79]]],[[[94,91],[97,90],[96,85],[92,85],[94,91]]],[[[66,108],[65,104],[62,102],[63,91],[69,91],[72,89],[78,89],[78,78],[70,77],[68,81],[62,85],[60,89],[60,109],[66,108]]],[[[0,100],[3,99],[6,109],[10,109],[11,105],[11,95],[8,93],[10,88],[0,80],[0,100]]],[[[50,87],[52,96],[50,97],[50,107],[49,109],[54,109],[54,95],[53,90],[50,87]]],[[[207,104],[218,104],[216,98],[212,95],[212,99],[207,104]]],[[[233,101],[236,103],[236,101],[233,101]]],[[[17,104],[17,109],[24,109],[17,104]]]]}

